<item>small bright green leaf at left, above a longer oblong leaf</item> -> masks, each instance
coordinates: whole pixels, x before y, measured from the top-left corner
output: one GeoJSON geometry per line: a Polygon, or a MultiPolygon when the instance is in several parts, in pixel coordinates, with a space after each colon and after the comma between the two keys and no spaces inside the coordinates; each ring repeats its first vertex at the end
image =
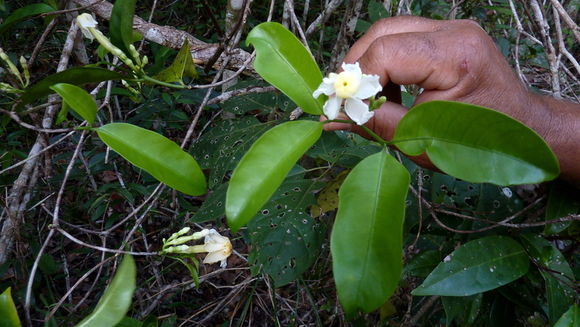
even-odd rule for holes
{"type": "Polygon", "coordinates": [[[97,103],[95,99],[84,89],[67,83],[58,83],[50,87],[62,97],[72,110],[83,117],[89,124],[95,122],[97,116],[97,103]]]}

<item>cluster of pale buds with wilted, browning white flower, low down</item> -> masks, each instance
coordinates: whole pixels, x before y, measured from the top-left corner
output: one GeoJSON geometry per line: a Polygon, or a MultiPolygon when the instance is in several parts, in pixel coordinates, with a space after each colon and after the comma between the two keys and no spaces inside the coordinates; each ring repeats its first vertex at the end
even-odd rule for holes
{"type": "Polygon", "coordinates": [[[182,228],[179,232],[173,233],[167,240],[163,239],[161,254],[194,254],[207,253],[203,263],[221,262],[220,266],[225,268],[227,259],[232,254],[232,243],[230,239],[220,235],[215,229],[203,229],[191,235],[191,228],[182,228]],[[204,244],[187,245],[185,243],[204,238],[204,244]]]}

